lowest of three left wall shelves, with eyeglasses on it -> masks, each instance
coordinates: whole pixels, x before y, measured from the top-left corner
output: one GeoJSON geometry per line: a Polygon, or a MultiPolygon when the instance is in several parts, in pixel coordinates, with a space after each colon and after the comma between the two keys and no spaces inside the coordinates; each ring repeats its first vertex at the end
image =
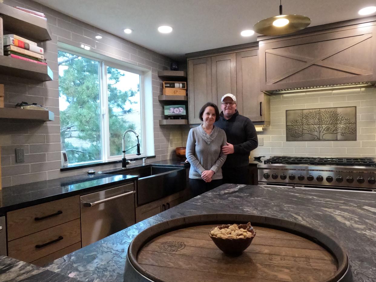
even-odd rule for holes
{"type": "Polygon", "coordinates": [[[55,120],[55,115],[53,114],[53,112],[50,111],[17,108],[0,108],[0,118],[53,121],[55,120]]]}

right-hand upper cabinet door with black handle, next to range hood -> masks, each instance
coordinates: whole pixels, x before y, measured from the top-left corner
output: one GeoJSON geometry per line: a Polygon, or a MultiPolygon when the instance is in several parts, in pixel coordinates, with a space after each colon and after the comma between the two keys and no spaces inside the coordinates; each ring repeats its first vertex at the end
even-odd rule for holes
{"type": "Polygon", "coordinates": [[[236,55],[238,111],[252,121],[270,121],[270,99],[260,91],[258,50],[236,55]]]}

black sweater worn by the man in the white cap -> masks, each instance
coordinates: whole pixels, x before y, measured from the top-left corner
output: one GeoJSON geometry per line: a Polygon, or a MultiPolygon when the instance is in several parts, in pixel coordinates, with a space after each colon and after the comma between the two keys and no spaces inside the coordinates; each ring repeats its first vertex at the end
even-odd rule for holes
{"type": "Polygon", "coordinates": [[[240,115],[237,110],[228,120],[223,117],[223,112],[221,112],[219,120],[214,125],[226,132],[227,143],[234,146],[234,152],[227,155],[223,167],[249,165],[249,154],[258,146],[257,133],[252,121],[240,115]]]}

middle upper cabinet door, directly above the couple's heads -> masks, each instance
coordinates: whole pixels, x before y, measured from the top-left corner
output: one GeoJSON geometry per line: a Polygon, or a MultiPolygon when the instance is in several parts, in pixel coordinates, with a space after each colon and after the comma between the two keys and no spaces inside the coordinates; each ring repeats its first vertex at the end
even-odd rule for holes
{"type": "Polygon", "coordinates": [[[212,57],[212,102],[221,105],[224,94],[237,96],[235,53],[212,57]]]}

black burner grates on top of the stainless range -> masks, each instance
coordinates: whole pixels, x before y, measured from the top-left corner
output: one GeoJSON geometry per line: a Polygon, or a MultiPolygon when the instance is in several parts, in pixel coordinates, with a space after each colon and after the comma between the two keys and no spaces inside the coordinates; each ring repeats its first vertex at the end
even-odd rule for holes
{"type": "Polygon", "coordinates": [[[341,165],[341,166],[362,166],[376,167],[373,158],[312,158],[312,157],[289,157],[272,156],[266,159],[264,164],[308,164],[308,165],[341,165]]]}

